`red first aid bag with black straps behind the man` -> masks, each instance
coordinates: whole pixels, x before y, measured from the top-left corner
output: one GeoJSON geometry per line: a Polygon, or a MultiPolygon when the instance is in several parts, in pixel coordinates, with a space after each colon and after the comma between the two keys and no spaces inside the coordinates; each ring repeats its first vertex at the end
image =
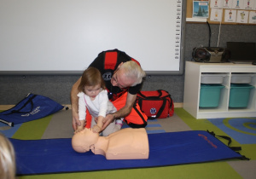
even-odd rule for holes
{"type": "Polygon", "coordinates": [[[166,90],[140,91],[137,103],[148,119],[167,118],[174,113],[172,97],[166,90]]]}

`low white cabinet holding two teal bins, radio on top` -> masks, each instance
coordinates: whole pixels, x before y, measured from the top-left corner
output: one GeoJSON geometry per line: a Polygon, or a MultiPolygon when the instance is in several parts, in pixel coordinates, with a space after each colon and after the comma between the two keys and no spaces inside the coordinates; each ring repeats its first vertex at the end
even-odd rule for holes
{"type": "MultiPolygon", "coordinates": [[[[183,95],[183,108],[195,118],[237,118],[256,117],[256,66],[251,64],[233,63],[200,63],[186,61],[185,82],[183,95]],[[201,76],[204,74],[222,76],[221,84],[224,88],[219,94],[218,107],[199,107],[201,92],[201,76]],[[247,107],[231,108],[230,87],[231,78],[237,75],[249,75],[251,80],[248,84],[254,88],[250,90],[247,107]]],[[[232,80],[233,80],[232,78],[232,80]]],[[[206,79],[204,79],[204,83],[206,79]]],[[[210,83],[209,83],[210,84],[210,83]]]]}

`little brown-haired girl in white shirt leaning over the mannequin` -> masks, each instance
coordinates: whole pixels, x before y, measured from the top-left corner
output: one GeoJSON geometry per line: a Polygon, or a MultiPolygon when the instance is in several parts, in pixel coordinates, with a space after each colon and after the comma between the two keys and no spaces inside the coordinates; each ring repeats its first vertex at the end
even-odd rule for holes
{"type": "MultiPolygon", "coordinates": [[[[79,120],[81,125],[75,133],[84,129],[86,108],[88,109],[91,118],[90,127],[93,132],[100,132],[103,126],[103,119],[108,113],[116,112],[116,108],[112,102],[108,100],[108,91],[105,90],[105,84],[102,79],[101,72],[95,67],[87,68],[81,78],[79,84],[79,120]],[[95,122],[97,118],[97,123],[95,122]]],[[[120,130],[122,124],[109,124],[108,127],[102,131],[102,136],[120,130]]]]}

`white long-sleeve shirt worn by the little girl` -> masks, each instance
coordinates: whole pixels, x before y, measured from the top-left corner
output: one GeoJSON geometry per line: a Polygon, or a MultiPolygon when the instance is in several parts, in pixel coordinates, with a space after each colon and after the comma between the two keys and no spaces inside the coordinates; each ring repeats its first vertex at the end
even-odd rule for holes
{"type": "Polygon", "coordinates": [[[116,108],[113,103],[108,100],[108,91],[102,90],[96,98],[91,101],[90,96],[85,95],[84,92],[79,92],[79,120],[84,120],[86,117],[86,108],[91,116],[98,117],[103,116],[104,118],[108,113],[116,112],[116,108]]]}

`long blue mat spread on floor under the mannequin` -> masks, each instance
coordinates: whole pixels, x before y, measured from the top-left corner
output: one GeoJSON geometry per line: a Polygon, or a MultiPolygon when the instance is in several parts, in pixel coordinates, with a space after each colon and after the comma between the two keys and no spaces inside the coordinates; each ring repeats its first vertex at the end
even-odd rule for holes
{"type": "Polygon", "coordinates": [[[94,170],[119,170],[243,159],[207,131],[148,134],[149,158],[107,160],[94,153],[76,153],[71,139],[17,140],[18,176],[94,170]]]}

